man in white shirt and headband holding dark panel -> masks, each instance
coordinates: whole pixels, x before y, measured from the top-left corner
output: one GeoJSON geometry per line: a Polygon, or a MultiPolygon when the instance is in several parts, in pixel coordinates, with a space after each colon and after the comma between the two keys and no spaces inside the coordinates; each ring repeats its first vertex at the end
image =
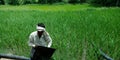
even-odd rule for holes
{"type": "Polygon", "coordinates": [[[38,23],[36,26],[37,31],[34,31],[29,36],[29,46],[32,47],[31,50],[31,60],[45,60],[40,57],[39,59],[33,58],[35,53],[35,48],[38,46],[51,47],[52,39],[48,32],[45,30],[45,25],[43,23],[38,23]]]}

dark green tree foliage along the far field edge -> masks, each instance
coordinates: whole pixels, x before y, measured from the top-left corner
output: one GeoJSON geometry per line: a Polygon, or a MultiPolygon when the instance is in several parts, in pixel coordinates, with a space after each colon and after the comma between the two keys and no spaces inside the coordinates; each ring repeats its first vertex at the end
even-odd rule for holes
{"type": "Polygon", "coordinates": [[[0,0],[0,4],[53,4],[53,3],[91,3],[99,6],[120,6],[120,0],[0,0]]]}

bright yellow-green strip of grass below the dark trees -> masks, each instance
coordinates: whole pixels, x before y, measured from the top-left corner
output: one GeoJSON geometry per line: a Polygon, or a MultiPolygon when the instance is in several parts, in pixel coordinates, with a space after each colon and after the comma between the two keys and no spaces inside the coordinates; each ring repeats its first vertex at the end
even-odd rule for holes
{"type": "Polygon", "coordinates": [[[76,11],[86,8],[94,8],[90,6],[89,4],[65,4],[65,5],[39,5],[39,4],[33,4],[33,5],[20,5],[20,6],[11,6],[11,5],[1,5],[0,10],[39,10],[39,11],[76,11]]]}

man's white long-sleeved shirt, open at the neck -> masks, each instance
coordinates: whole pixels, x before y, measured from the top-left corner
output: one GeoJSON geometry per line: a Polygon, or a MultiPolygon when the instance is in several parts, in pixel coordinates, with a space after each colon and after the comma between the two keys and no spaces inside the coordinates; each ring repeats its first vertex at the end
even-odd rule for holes
{"type": "Polygon", "coordinates": [[[49,36],[49,33],[44,31],[42,36],[39,38],[37,35],[37,31],[34,31],[29,36],[29,46],[35,45],[35,46],[44,46],[44,47],[50,47],[52,45],[52,39],[49,36]]]}

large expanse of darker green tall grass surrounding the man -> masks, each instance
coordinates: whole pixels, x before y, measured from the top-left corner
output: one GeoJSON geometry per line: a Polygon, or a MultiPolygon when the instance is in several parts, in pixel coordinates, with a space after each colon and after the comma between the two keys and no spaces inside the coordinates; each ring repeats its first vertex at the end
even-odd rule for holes
{"type": "Polygon", "coordinates": [[[95,43],[119,60],[120,9],[88,8],[74,11],[0,10],[0,52],[29,57],[28,36],[38,22],[46,25],[53,39],[55,60],[81,60],[86,40],[86,60],[97,60],[95,43]]]}

